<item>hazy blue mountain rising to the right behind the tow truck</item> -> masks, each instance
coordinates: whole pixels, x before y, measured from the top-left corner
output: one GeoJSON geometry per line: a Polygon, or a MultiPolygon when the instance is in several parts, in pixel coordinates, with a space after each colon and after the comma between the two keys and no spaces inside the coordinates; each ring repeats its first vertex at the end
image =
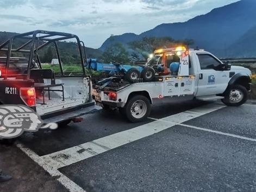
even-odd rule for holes
{"type": "Polygon", "coordinates": [[[140,35],[111,36],[99,49],[104,50],[116,42],[127,44],[143,37],[170,36],[174,39],[193,39],[195,47],[209,50],[222,57],[226,56],[227,48],[239,42],[239,39],[256,26],[255,10],[255,0],[241,0],[213,9],[208,14],[196,16],[186,22],[160,24],[140,35]]]}

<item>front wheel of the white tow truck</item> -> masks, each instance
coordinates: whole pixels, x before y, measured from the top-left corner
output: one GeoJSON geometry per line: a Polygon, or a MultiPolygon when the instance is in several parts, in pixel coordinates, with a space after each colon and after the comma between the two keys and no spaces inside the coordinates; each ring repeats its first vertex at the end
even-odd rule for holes
{"type": "Polygon", "coordinates": [[[248,99],[248,91],[242,85],[236,84],[228,88],[221,101],[228,106],[240,106],[248,99]]]}

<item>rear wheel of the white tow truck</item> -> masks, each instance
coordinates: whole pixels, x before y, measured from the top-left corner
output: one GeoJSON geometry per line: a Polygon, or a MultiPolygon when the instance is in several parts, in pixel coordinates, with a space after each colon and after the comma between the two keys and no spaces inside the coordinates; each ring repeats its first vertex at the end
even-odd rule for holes
{"type": "Polygon", "coordinates": [[[124,108],[127,119],[136,123],[144,121],[151,111],[151,104],[147,97],[143,95],[135,95],[128,100],[124,108]]]}

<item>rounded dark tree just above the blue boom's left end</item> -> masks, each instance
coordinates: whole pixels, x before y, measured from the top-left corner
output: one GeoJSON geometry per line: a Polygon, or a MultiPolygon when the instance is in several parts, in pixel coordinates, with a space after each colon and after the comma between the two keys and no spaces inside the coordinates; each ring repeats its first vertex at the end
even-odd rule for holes
{"type": "Polygon", "coordinates": [[[129,54],[126,48],[123,47],[122,43],[115,43],[105,49],[102,54],[104,62],[127,62],[129,60],[129,54]]]}

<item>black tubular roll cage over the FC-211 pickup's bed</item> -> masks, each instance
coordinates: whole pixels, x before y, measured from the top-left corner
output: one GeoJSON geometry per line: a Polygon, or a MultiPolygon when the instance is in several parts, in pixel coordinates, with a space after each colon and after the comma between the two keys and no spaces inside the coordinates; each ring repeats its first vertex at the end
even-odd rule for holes
{"type": "MultiPolygon", "coordinates": [[[[83,72],[83,74],[78,75],[78,76],[85,77],[86,72],[85,72],[85,68],[84,68],[84,62],[87,63],[87,59],[86,59],[86,51],[85,51],[85,47],[84,47],[84,42],[80,41],[78,36],[73,35],[73,34],[68,34],[68,33],[64,33],[64,32],[55,32],[55,31],[44,31],[44,30],[35,30],[35,31],[25,32],[23,34],[14,35],[13,37],[9,38],[7,41],[3,42],[0,45],[0,51],[4,51],[5,54],[7,55],[6,62],[5,62],[5,70],[2,73],[2,76],[4,76],[4,79],[7,79],[8,76],[13,76],[13,75],[8,74],[8,69],[9,69],[9,65],[10,65],[10,61],[11,61],[11,53],[12,52],[26,52],[29,54],[26,78],[29,79],[30,78],[30,69],[33,68],[34,61],[36,61],[38,63],[38,67],[40,69],[42,69],[38,51],[40,49],[46,47],[47,45],[53,43],[57,57],[58,57],[58,61],[59,61],[60,74],[62,77],[65,77],[66,75],[63,70],[63,65],[61,63],[60,52],[59,52],[57,42],[64,41],[67,39],[72,39],[72,38],[75,38],[77,41],[79,56],[80,56],[80,61],[81,61],[80,64],[83,69],[83,71],[79,71],[79,72],[83,72]],[[26,39],[27,42],[23,43],[18,48],[14,49],[13,42],[14,42],[14,39],[17,39],[17,38],[26,39]],[[24,49],[26,47],[28,47],[28,49],[24,49]],[[83,49],[82,49],[82,47],[83,47],[83,49]]],[[[22,75],[25,75],[25,74],[22,74],[22,75]]]]}

